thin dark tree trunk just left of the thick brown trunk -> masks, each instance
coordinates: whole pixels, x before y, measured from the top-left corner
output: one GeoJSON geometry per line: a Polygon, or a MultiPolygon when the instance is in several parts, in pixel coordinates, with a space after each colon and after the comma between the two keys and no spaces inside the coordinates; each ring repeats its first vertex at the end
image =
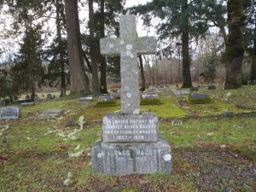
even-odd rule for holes
{"type": "MultiPolygon", "coordinates": [[[[61,48],[61,21],[60,21],[60,3],[56,0],[56,28],[57,28],[57,41],[59,48],[61,48]]],[[[65,63],[62,49],[59,49],[60,53],[60,68],[61,68],[61,96],[66,96],[66,80],[65,80],[65,63]]]]}

